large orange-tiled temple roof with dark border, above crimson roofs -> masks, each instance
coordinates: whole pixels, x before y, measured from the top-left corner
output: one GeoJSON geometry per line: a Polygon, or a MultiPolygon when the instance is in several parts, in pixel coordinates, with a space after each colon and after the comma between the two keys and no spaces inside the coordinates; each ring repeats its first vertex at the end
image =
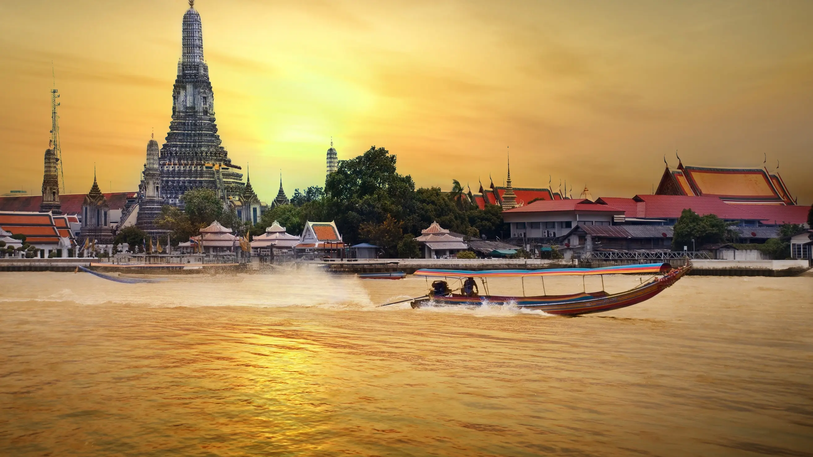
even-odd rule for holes
{"type": "Polygon", "coordinates": [[[717,197],[728,203],[795,205],[785,181],[767,168],[677,168],[667,164],[656,195],[717,197]]]}

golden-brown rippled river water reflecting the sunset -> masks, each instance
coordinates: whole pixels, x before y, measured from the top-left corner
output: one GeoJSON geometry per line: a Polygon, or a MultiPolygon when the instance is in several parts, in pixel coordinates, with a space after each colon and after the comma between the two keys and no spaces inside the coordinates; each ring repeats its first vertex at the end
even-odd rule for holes
{"type": "Polygon", "coordinates": [[[376,308],[413,277],[201,279],[0,273],[0,455],[813,455],[813,277],[576,318],[376,308]]]}

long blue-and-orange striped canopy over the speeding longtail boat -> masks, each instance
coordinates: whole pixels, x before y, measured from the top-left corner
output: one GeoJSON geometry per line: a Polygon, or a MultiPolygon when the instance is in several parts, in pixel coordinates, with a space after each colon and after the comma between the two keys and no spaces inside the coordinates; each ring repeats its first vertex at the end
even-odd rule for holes
{"type": "Polygon", "coordinates": [[[422,268],[415,276],[428,277],[515,277],[515,276],[565,276],[565,275],[615,275],[615,274],[659,274],[672,269],[669,263],[643,263],[639,265],[617,265],[602,268],[547,268],[545,270],[435,270],[422,268]]]}

